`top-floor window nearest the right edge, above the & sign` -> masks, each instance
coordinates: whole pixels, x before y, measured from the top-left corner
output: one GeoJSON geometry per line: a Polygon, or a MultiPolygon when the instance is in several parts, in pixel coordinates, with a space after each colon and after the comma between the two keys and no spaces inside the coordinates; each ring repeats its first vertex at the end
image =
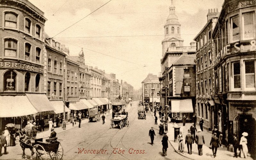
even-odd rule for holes
{"type": "Polygon", "coordinates": [[[244,39],[254,38],[254,12],[243,13],[243,37],[244,39]]]}

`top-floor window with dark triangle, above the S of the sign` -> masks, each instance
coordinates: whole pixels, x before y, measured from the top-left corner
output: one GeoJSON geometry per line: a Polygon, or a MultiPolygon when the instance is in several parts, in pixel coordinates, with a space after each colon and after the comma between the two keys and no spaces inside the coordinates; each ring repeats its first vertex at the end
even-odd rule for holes
{"type": "Polygon", "coordinates": [[[231,36],[232,42],[240,40],[240,26],[238,15],[231,18],[231,36]]]}

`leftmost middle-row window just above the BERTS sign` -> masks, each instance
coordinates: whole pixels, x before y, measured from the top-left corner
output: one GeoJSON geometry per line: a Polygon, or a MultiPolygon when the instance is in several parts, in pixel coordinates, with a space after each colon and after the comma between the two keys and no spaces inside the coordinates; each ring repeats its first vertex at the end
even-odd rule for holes
{"type": "Polygon", "coordinates": [[[4,39],[4,56],[17,57],[17,41],[11,38],[4,39]]]}

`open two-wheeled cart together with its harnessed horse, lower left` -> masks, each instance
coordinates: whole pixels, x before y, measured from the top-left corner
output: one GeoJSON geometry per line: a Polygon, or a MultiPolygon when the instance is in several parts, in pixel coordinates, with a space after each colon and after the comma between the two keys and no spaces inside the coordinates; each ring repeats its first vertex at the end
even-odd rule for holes
{"type": "Polygon", "coordinates": [[[22,158],[25,157],[25,148],[31,150],[31,158],[35,160],[46,160],[48,155],[53,160],[59,160],[63,156],[63,148],[60,141],[57,138],[46,139],[43,142],[43,138],[35,139],[34,137],[27,137],[21,131],[20,133],[20,146],[23,150],[22,158]]]}

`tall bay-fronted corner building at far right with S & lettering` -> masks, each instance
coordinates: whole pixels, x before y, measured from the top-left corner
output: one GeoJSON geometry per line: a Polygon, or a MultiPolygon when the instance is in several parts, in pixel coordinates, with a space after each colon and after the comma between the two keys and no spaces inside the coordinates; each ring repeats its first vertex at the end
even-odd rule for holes
{"type": "Polygon", "coordinates": [[[256,2],[225,0],[212,37],[219,129],[229,143],[232,134],[248,133],[249,153],[256,152],[256,2]]]}

